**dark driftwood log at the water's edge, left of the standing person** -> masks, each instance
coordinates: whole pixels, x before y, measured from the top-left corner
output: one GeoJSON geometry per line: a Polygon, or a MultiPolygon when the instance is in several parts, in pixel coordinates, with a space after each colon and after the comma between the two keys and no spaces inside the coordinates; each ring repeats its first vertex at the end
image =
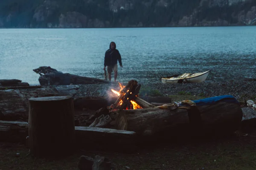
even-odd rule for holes
{"type": "Polygon", "coordinates": [[[40,75],[39,83],[40,85],[78,85],[78,84],[98,84],[98,83],[113,83],[104,79],[96,79],[91,77],[82,77],[69,73],[62,73],[54,68],[41,66],[39,68],[33,69],[35,73],[40,75]]]}

